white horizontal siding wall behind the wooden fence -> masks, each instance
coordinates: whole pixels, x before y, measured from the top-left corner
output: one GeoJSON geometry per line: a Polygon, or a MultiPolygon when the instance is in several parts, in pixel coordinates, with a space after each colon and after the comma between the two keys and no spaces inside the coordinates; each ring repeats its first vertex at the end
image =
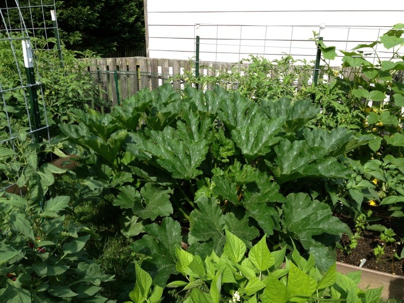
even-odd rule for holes
{"type": "MultiPolygon", "coordinates": [[[[237,62],[248,54],[276,59],[282,53],[313,60],[310,38],[320,24],[326,45],[351,49],[404,23],[404,1],[147,0],[147,21],[150,58],[193,58],[200,24],[200,60],[237,62]]],[[[388,58],[383,51],[378,48],[379,56],[388,58]]]]}

